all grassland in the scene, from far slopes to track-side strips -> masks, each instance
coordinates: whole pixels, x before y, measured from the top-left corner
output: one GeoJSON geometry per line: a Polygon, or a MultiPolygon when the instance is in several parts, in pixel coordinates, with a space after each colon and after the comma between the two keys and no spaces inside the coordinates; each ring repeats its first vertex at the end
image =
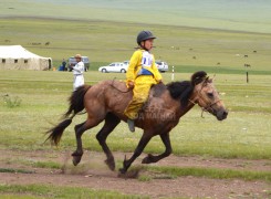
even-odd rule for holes
{"type": "MultiPolygon", "coordinates": [[[[96,3],[92,4],[82,0],[82,4],[76,7],[70,1],[63,4],[61,0],[15,2],[12,6],[10,1],[0,2],[0,45],[23,45],[37,54],[52,57],[55,67],[60,65],[63,57],[67,59],[76,53],[87,55],[91,59],[91,71],[85,73],[87,84],[114,77],[124,80],[124,74],[102,74],[97,72],[97,67],[110,62],[128,60],[135,48],[137,32],[143,29],[152,30],[158,36],[153,52],[157,60],[167,61],[170,70],[173,65],[175,66],[175,80],[189,80],[191,73],[199,70],[207,71],[210,76],[216,74],[215,84],[229,109],[229,116],[222,123],[209,114],[205,114],[205,118],[201,118],[198,107],[189,112],[170,133],[174,154],[202,158],[271,159],[271,31],[268,28],[269,10],[268,7],[262,7],[263,1],[253,4],[257,10],[261,8],[262,11],[262,14],[258,14],[257,18],[256,14],[250,14],[249,18],[238,15],[237,9],[229,17],[230,19],[223,19],[219,18],[221,11],[219,2],[210,0],[209,2],[216,4],[216,13],[206,8],[207,15],[201,20],[198,17],[200,10],[195,9],[190,12],[188,4],[184,7],[187,10],[180,12],[178,9],[174,10],[170,3],[159,1],[164,3],[167,13],[159,14],[160,8],[155,6],[148,13],[153,14],[148,18],[149,21],[143,21],[144,10],[143,12],[124,11],[127,10],[125,6],[115,7],[111,1],[104,4],[101,3],[102,1],[95,1],[96,3]],[[75,8],[82,9],[76,17],[73,13],[75,8]],[[106,12],[108,9],[111,9],[110,13],[106,12]],[[119,10],[122,14],[114,15],[119,10]],[[191,13],[194,14],[189,15],[191,13]],[[234,22],[238,17],[240,17],[238,22],[234,22]],[[50,45],[45,45],[46,42],[50,42],[50,45]],[[243,67],[244,64],[250,64],[251,67],[243,67]],[[246,72],[250,74],[249,83],[246,82],[246,72]]],[[[195,1],[194,4],[200,2],[195,1]]],[[[229,1],[229,4],[232,2],[229,1]]],[[[237,4],[239,7],[242,3],[237,4]]],[[[253,9],[246,7],[244,11],[252,13],[250,11],[253,9]]],[[[166,83],[170,82],[171,73],[164,73],[163,77],[166,83]]],[[[45,139],[43,133],[52,124],[59,123],[61,114],[66,111],[66,100],[72,92],[72,78],[69,72],[0,71],[0,149],[25,153],[51,151],[50,144],[43,143],[45,139]],[[15,100],[20,100],[20,103],[12,107],[15,100]]],[[[84,119],[84,115],[77,116],[73,125],[84,119]]],[[[65,130],[59,148],[53,149],[63,151],[75,148],[73,125],[65,130]]],[[[102,124],[83,135],[84,149],[101,151],[95,139],[95,134],[101,127],[102,124]]],[[[121,123],[108,137],[107,143],[114,151],[128,153],[135,149],[140,135],[139,129],[131,134],[127,125],[121,123]]],[[[164,145],[158,137],[152,139],[145,149],[145,153],[161,151],[164,145]]],[[[12,166],[13,163],[10,164],[12,166]]],[[[14,164],[27,167],[60,168],[60,164],[51,160],[37,161],[33,165],[32,161],[21,158],[14,159],[14,164]]],[[[117,167],[121,167],[121,164],[117,160],[117,167]]],[[[147,167],[146,169],[168,174],[174,178],[196,176],[270,181],[268,171],[258,174],[176,167],[147,167]]],[[[1,168],[0,171],[28,170],[1,168]]],[[[148,181],[149,177],[143,176],[139,180],[148,181]]],[[[76,191],[69,189],[40,185],[0,186],[0,192],[4,193],[6,198],[12,196],[13,198],[24,196],[25,198],[38,196],[69,198],[74,195],[82,198],[93,195],[108,198],[137,198],[137,196],[123,196],[106,190],[100,192],[84,188],[76,191]],[[14,192],[15,195],[12,195],[14,192]]]]}

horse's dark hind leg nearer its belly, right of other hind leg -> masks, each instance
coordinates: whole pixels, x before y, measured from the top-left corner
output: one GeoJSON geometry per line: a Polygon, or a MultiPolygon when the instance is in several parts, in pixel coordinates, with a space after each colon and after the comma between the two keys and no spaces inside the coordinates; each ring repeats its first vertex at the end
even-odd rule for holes
{"type": "Polygon", "coordinates": [[[115,170],[115,160],[111,149],[106,144],[106,138],[112,133],[112,130],[119,124],[119,122],[121,119],[118,117],[108,113],[105,117],[105,124],[103,128],[96,135],[96,138],[106,155],[105,164],[110,167],[111,170],[115,170]]]}

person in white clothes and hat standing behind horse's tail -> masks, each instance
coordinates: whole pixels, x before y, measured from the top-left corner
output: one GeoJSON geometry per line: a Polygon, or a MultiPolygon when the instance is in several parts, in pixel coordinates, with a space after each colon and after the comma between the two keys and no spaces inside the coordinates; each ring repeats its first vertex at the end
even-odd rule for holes
{"type": "Polygon", "coordinates": [[[82,56],[81,54],[76,54],[74,57],[77,63],[74,66],[72,66],[72,71],[74,75],[73,91],[75,91],[79,86],[84,85],[85,83],[84,76],[83,76],[85,69],[84,69],[84,63],[82,62],[82,56]]]}

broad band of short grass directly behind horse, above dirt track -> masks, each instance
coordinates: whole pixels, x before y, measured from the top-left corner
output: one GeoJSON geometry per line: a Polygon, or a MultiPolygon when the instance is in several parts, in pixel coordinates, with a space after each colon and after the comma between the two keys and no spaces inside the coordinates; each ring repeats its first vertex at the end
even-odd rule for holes
{"type": "MultiPolygon", "coordinates": [[[[163,74],[165,82],[170,74],[163,74]]],[[[188,80],[190,74],[176,73],[176,80],[188,80]]],[[[87,84],[102,80],[124,80],[124,74],[85,73],[87,84]]],[[[72,73],[41,71],[1,71],[0,93],[18,96],[21,105],[10,108],[0,100],[0,148],[18,150],[46,150],[43,133],[58,124],[67,108],[67,97],[72,92],[72,73]],[[33,78],[34,76],[34,78],[33,78]]],[[[216,86],[229,116],[218,122],[209,114],[200,117],[198,107],[181,117],[180,123],[170,133],[175,155],[179,156],[215,156],[222,158],[271,159],[270,115],[271,88],[269,75],[251,75],[246,83],[239,74],[217,74],[216,86]]],[[[76,116],[60,143],[59,149],[75,148],[74,125],[82,123],[85,116],[76,116]]],[[[87,130],[83,135],[85,149],[101,151],[95,135],[103,124],[87,130]]],[[[108,137],[107,143],[113,150],[134,151],[140,129],[131,134],[125,123],[121,123],[108,137]],[[122,142],[119,142],[122,140],[122,142]]],[[[164,145],[159,137],[154,137],[146,147],[146,153],[163,153],[164,145]]]]}

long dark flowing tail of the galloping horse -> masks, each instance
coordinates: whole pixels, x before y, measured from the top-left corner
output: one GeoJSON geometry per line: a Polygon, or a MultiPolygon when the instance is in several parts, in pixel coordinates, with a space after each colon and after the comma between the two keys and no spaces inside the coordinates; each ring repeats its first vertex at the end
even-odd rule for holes
{"type": "Polygon", "coordinates": [[[49,129],[45,133],[45,134],[49,134],[46,140],[50,139],[51,143],[54,145],[58,145],[60,143],[60,139],[62,137],[64,129],[72,123],[73,117],[77,113],[80,113],[84,109],[84,96],[85,96],[85,93],[88,91],[90,87],[91,87],[90,85],[88,86],[83,85],[83,86],[80,86],[76,91],[74,91],[72,93],[72,95],[69,98],[70,107],[66,111],[66,113],[63,115],[63,117],[66,119],[64,119],[59,125],[49,129]],[[72,114],[72,116],[69,117],[71,114],[72,114]]]}

